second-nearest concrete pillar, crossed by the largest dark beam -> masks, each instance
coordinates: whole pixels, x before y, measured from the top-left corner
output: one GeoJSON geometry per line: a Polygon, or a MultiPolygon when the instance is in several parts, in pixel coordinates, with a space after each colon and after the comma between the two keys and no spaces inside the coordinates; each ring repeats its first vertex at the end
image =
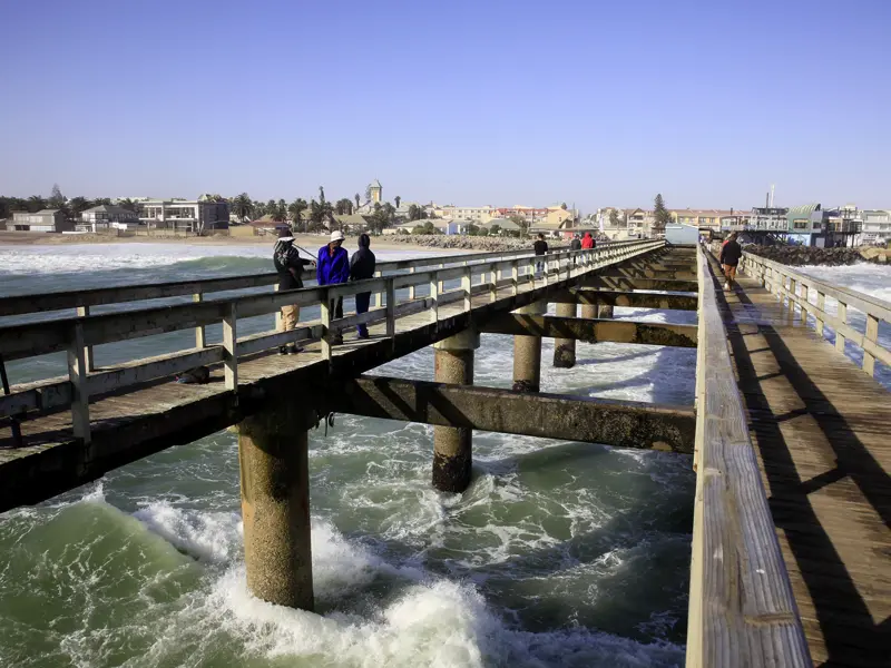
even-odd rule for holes
{"type": "MultiPolygon", "coordinates": [[[[480,335],[468,328],[433,344],[434,374],[438,383],[473,384],[473,351],[480,335]]],[[[441,492],[463,492],[470,484],[473,430],[433,428],[433,487],[441,492]]]]}

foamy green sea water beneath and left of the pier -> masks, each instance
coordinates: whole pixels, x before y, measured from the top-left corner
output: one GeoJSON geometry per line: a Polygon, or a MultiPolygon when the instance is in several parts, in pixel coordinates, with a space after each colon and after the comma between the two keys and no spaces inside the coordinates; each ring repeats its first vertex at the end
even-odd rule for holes
{"type": "MultiPolygon", "coordinates": [[[[409,254],[379,257],[398,255],[409,254]]],[[[265,272],[267,256],[255,246],[0,247],[0,294],[265,272]]],[[[253,321],[239,333],[272,326],[253,321]]],[[[97,358],[188,345],[190,334],[166,334],[99,346],[97,358]]],[[[545,340],[547,392],[693,401],[693,350],[579,343],[572,370],[552,369],[551,356],[545,340]]],[[[483,335],[476,382],[509,386],[511,360],[510,337],[483,335]]],[[[47,355],[9,371],[25,382],[63,364],[47,355]]],[[[428,348],[375,373],[432,370],[428,348]]],[[[0,515],[0,666],[682,666],[691,458],[473,438],[473,482],[459,495],[430,487],[430,428],[337,415],[326,435],[311,432],[316,615],[245,587],[229,432],[0,515]]]]}

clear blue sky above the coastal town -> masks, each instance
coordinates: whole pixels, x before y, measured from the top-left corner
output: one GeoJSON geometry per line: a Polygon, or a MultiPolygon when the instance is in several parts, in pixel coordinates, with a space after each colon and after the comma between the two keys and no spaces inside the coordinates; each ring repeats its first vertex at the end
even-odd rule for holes
{"type": "Polygon", "coordinates": [[[0,0],[0,194],[891,207],[891,0],[0,0]]]}

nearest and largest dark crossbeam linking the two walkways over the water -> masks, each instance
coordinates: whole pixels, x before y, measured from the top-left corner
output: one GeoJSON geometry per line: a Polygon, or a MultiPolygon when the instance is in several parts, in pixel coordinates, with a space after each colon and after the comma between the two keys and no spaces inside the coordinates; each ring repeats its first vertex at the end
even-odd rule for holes
{"type": "Polygon", "coordinates": [[[325,393],[325,410],[441,426],[692,453],[692,407],[529,394],[360,376],[325,393]]]}

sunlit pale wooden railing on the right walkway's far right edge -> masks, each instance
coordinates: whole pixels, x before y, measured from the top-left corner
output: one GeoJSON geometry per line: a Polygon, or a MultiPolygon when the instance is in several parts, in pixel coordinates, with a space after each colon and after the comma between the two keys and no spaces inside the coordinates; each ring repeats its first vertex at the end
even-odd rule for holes
{"type": "Polygon", "coordinates": [[[875,373],[875,361],[891,366],[891,351],[879,343],[879,323],[891,323],[891,303],[877,299],[870,295],[817,281],[791,267],[743,253],[740,269],[780,297],[789,301],[789,310],[794,313],[795,306],[801,308],[802,321],[813,316],[816,333],[824,334],[825,325],[835,331],[835,348],[844,354],[844,344],[850,341],[863,350],[862,369],[870,375],[875,373]],[[811,292],[816,293],[816,304],[811,303],[811,292]],[[838,314],[826,311],[826,297],[838,302],[838,314]],[[850,323],[848,308],[855,308],[865,316],[863,332],[854,330],[850,323]]]}

